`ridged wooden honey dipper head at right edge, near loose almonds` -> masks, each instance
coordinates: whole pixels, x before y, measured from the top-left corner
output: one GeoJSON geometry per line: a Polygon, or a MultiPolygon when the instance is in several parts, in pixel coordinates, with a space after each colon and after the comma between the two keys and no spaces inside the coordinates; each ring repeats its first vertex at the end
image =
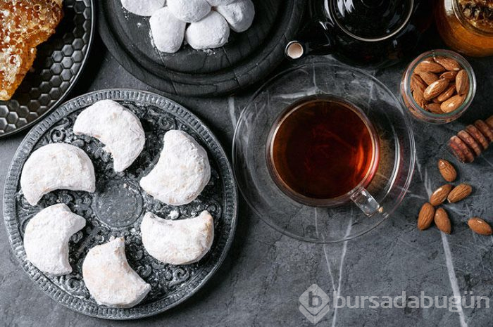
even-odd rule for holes
{"type": "Polygon", "coordinates": [[[449,140],[449,148],[461,162],[473,162],[493,142],[493,116],[476,120],[449,140]]]}

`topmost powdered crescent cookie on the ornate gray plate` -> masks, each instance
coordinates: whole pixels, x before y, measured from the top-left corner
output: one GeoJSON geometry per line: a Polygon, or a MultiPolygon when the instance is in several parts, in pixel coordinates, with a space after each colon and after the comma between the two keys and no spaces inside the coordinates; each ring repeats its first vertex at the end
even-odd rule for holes
{"type": "Polygon", "coordinates": [[[101,100],[83,110],[75,120],[73,131],[104,143],[104,150],[113,155],[115,172],[130,167],[146,142],[139,118],[113,100],[101,100]]]}

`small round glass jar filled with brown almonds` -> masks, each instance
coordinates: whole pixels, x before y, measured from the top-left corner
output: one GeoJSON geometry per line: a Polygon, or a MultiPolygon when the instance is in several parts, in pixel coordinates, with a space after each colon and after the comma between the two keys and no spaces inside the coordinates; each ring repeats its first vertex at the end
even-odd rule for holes
{"type": "Polygon", "coordinates": [[[473,68],[449,50],[422,53],[408,65],[401,80],[404,105],[418,120],[445,124],[469,108],[476,93],[473,68]]]}

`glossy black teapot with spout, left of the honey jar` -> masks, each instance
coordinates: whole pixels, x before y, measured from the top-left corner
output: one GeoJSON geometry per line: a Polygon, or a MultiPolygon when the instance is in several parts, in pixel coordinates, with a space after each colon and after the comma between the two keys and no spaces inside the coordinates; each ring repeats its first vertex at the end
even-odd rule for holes
{"type": "Polygon", "coordinates": [[[385,67],[412,53],[432,22],[432,0],[311,0],[308,23],[285,49],[385,67]]]}

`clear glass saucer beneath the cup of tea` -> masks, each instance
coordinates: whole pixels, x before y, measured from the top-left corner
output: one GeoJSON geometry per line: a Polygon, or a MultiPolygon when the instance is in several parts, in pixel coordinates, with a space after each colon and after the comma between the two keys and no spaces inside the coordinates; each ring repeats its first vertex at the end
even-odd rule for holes
{"type": "Polygon", "coordinates": [[[391,216],[411,183],[415,144],[411,122],[397,98],[380,81],[345,65],[308,63],[281,72],[251,98],[235,130],[235,176],[249,207],[266,224],[300,241],[337,243],[374,229],[391,216]],[[278,115],[305,96],[346,98],[367,115],[380,141],[380,163],[367,190],[380,203],[371,217],[354,203],[311,207],[277,188],[268,172],[268,133],[278,115]]]}

